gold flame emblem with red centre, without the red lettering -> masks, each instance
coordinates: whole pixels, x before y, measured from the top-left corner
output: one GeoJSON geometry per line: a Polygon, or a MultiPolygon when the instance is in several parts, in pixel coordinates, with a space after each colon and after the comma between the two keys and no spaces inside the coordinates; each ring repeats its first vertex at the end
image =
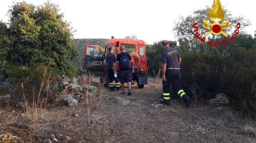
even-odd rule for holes
{"type": "Polygon", "coordinates": [[[223,29],[227,29],[228,27],[230,27],[230,24],[229,20],[220,23],[220,21],[224,19],[224,12],[222,10],[220,0],[214,0],[212,8],[209,12],[209,18],[213,21],[213,23],[210,23],[210,21],[203,20],[203,27],[209,30],[209,32],[206,32],[204,36],[207,36],[209,34],[222,34],[225,37],[227,37],[228,34],[224,32],[223,29]]]}

